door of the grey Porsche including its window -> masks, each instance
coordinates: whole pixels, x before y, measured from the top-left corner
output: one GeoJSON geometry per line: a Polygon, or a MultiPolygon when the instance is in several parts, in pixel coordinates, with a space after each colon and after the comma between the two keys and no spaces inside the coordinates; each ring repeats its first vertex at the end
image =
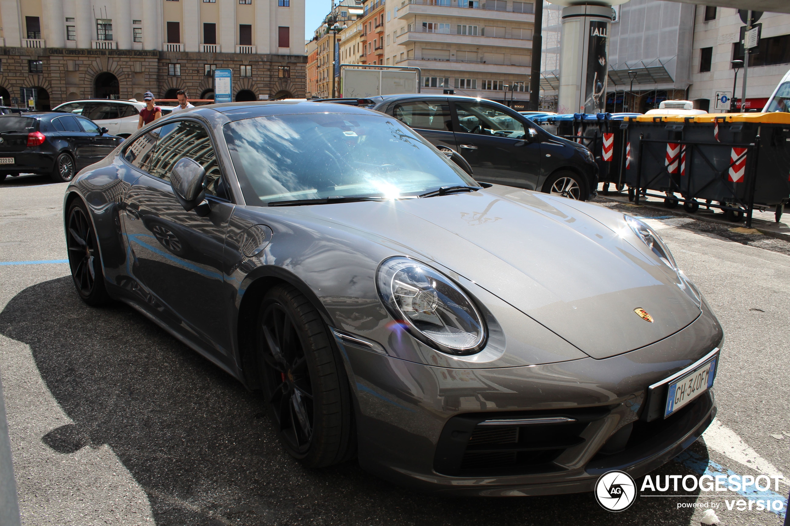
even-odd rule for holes
{"type": "Polygon", "coordinates": [[[208,133],[197,122],[180,121],[138,140],[141,144],[135,141],[126,155],[145,173],[126,196],[131,273],[168,315],[231,364],[230,332],[222,314],[230,306],[221,290],[224,237],[233,204],[212,195],[221,173],[208,133]],[[172,191],[171,168],[183,157],[199,162],[208,174],[212,211],[206,217],[185,211],[172,191]]]}

